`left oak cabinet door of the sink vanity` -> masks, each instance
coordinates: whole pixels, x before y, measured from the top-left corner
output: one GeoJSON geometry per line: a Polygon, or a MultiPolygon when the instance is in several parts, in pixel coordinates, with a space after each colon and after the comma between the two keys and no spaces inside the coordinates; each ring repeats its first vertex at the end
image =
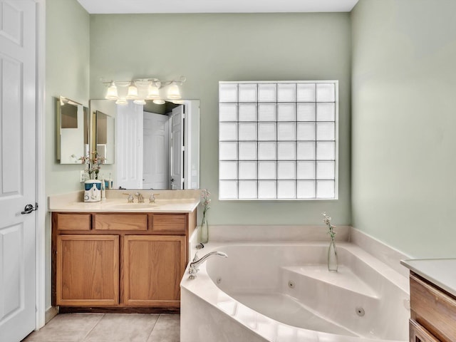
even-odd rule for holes
{"type": "Polygon", "coordinates": [[[57,237],[56,304],[119,304],[118,235],[57,237]]]}

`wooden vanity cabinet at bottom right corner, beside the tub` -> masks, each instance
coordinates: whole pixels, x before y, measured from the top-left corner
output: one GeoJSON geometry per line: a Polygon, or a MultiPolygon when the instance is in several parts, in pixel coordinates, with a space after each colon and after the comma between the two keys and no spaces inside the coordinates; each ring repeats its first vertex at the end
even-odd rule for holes
{"type": "Polygon", "coordinates": [[[456,341],[456,297],[410,272],[410,342],[456,341]]]}

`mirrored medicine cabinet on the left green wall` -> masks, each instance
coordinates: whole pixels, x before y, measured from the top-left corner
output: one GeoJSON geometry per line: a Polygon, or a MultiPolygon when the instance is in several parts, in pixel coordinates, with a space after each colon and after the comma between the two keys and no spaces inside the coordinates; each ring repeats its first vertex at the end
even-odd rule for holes
{"type": "Polygon", "coordinates": [[[88,154],[90,145],[88,108],[63,96],[56,98],[56,121],[57,160],[81,164],[79,158],[88,154]]]}

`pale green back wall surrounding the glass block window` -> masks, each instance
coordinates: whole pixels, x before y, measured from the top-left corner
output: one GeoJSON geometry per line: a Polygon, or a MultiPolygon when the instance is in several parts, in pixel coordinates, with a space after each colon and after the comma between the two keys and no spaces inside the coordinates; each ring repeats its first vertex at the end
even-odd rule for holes
{"type": "Polygon", "coordinates": [[[349,224],[350,14],[134,14],[90,16],[90,98],[105,80],[187,77],[182,96],[201,100],[201,187],[209,224],[349,224]],[[219,202],[218,82],[339,81],[339,199],[219,202]]]}

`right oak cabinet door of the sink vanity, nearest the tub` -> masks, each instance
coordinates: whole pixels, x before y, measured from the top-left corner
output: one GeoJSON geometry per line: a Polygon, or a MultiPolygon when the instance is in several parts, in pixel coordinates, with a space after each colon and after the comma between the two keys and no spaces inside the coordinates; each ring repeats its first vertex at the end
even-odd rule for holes
{"type": "Polygon", "coordinates": [[[120,265],[123,304],[180,307],[185,250],[184,236],[125,235],[120,265]]]}

